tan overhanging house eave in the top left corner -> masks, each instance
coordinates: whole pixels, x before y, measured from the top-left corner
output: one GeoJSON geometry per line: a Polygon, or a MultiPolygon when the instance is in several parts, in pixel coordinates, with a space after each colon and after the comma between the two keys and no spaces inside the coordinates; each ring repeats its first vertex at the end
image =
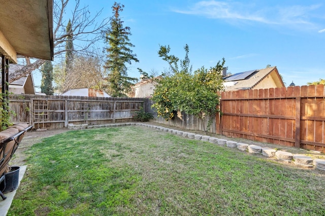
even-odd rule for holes
{"type": "Polygon", "coordinates": [[[0,54],[53,60],[52,0],[1,1],[0,14],[0,54]]]}

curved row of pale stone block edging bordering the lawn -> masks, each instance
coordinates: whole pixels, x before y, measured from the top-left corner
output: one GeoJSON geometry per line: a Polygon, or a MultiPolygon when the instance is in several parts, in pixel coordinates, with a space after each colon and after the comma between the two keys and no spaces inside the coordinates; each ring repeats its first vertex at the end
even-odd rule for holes
{"type": "Polygon", "coordinates": [[[232,140],[217,138],[208,135],[201,135],[195,134],[190,132],[185,132],[176,129],[170,129],[162,126],[155,126],[145,123],[113,123],[113,124],[106,124],[106,125],[74,125],[68,124],[68,129],[78,130],[78,129],[92,129],[92,128],[103,128],[103,127],[121,127],[121,126],[143,126],[149,127],[156,130],[161,130],[163,132],[169,132],[175,135],[183,136],[189,139],[196,139],[202,141],[209,141],[210,143],[217,144],[219,146],[226,146],[228,148],[237,148],[239,151],[242,152],[249,152],[251,154],[263,154],[266,157],[276,157],[279,161],[291,163],[294,162],[296,165],[303,166],[303,167],[315,167],[319,170],[325,171],[325,160],[322,159],[312,159],[309,156],[296,154],[293,155],[289,152],[277,151],[275,149],[270,149],[268,147],[260,147],[255,145],[249,145],[243,142],[236,142],[232,140]]]}

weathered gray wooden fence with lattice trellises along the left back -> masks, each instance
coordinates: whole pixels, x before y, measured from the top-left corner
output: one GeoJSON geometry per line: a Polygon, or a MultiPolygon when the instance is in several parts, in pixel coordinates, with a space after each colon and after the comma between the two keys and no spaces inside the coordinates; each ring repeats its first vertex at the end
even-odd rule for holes
{"type": "Polygon", "coordinates": [[[132,121],[144,98],[13,95],[14,122],[39,128],[63,128],[68,124],[100,125],[132,121]]]}

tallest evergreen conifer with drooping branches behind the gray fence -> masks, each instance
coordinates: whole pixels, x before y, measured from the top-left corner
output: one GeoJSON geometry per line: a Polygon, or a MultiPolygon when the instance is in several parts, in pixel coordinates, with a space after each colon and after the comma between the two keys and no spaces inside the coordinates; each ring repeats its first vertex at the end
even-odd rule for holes
{"type": "Polygon", "coordinates": [[[130,28],[123,27],[123,21],[120,19],[120,12],[123,11],[123,8],[123,5],[114,3],[111,28],[105,34],[108,47],[106,47],[107,60],[104,67],[108,71],[108,91],[113,97],[125,96],[125,93],[129,92],[131,86],[138,80],[137,78],[127,77],[126,63],[131,64],[132,61],[138,62],[139,60],[130,49],[130,47],[134,47],[128,39],[128,35],[131,35],[130,28]]]}

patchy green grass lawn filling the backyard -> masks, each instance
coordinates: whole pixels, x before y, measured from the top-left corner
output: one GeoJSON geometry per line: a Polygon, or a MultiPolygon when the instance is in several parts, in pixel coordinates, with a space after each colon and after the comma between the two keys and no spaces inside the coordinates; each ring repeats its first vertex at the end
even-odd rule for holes
{"type": "Polygon", "coordinates": [[[325,179],[136,126],[75,130],[28,150],[8,215],[325,215],[325,179]]]}

